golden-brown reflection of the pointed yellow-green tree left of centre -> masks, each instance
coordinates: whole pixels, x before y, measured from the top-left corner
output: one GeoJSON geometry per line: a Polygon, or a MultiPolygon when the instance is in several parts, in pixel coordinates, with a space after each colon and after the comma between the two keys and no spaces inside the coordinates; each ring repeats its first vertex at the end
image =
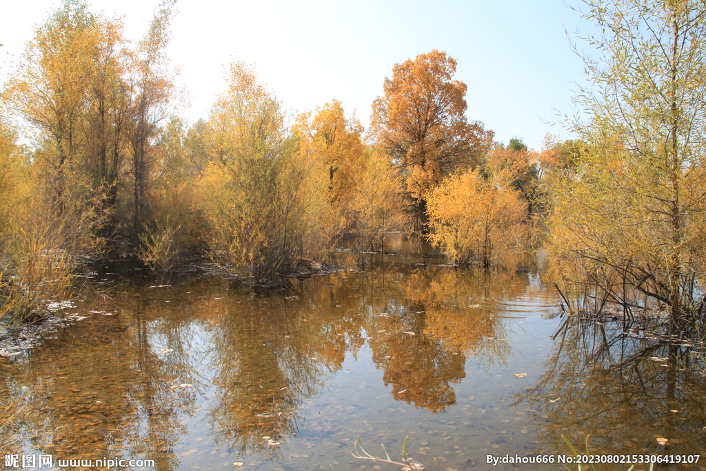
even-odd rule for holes
{"type": "Polygon", "coordinates": [[[275,443],[297,435],[300,405],[318,395],[322,376],[340,369],[347,347],[338,339],[356,335],[360,326],[324,312],[314,316],[300,300],[270,293],[222,308],[211,350],[216,392],[208,407],[220,446],[280,457],[275,443]]]}

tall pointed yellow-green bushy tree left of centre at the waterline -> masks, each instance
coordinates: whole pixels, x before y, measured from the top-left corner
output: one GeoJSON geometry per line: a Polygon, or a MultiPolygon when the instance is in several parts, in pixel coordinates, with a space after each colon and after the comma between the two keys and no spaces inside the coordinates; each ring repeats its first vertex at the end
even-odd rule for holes
{"type": "Polygon", "coordinates": [[[208,121],[213,255],[235,273],[267,282],[328,246],[330,205],[321,184],[328,176],[294,155],[280,102],[249,66],[234,64],[229,78],[208,121]]]}

